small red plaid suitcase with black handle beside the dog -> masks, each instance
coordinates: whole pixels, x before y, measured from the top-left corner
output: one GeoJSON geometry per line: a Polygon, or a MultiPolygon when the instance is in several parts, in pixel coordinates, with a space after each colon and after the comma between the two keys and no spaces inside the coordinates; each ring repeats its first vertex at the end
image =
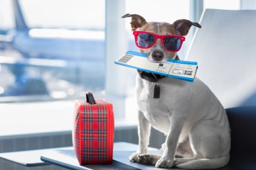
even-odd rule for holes
{"type": "Polygon", "coordinates": [[[76,100],[73,122],[73,147],[80,165],[112,164],[114,113],[111,103],[93,98],[76,100]],[[89,102],[89,103],[88,103],[89,102]]]}

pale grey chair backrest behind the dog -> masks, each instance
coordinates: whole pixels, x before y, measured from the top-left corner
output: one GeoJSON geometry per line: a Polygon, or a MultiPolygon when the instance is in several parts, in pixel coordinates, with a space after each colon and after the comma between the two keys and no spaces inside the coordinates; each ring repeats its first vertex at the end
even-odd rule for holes
{"type": "Polygon", "coordinates": [[[206,9],[186,60],[224,108],[256,106],[256,11],[206,9]]]}

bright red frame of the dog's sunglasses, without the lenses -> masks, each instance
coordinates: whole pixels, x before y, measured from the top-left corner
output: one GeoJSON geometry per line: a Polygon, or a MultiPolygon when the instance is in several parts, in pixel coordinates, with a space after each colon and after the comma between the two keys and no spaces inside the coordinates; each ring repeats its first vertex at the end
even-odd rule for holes
{"type": "Polygon", "coordinates": [[[167,50],[167,51],[170,51],[170,52],[178,52],[179,50],[181,50],[181,46],[183,44],[183,41],[185,41],[185,37],[181,36],[181,35],[173,35],[173,34],[167,34],[167,35],[157,35],[157,34],[154,34],[154,33],[150,33],[150,32],[147,32],[147,31],[142,31],[142,30],[134,30],[133,31],[133,35],[134,35],[134,38],[135,38],[135,44],[137,45],[137,47],[139,48],[143,48],[143,49],[147,49],[147,48],[151,48],[158,39],[161,40],[161,44],[164,46],[164,38],[166,37],[174,37],[174,38],[179,38],[181,40],[181,44],[180,46],[178,47],[178,50],[169,50],[167,49],[165,46],[164,46],[164,49],[167,50]],[[140,47],[138,44],[137,44],[137,39],[138,39],[138,35],[139,33],[147,33],[147,34],[150,34],[150,35],[153,35],[155,40],[154,42],[149,46],[149,47],[140,47]]]}

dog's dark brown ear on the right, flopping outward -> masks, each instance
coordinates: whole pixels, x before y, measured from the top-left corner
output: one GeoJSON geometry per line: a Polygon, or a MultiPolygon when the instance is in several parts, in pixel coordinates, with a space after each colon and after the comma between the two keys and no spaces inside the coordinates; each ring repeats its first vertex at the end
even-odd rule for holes
{"type": "Polygon", "coordinates": [[[174,29],[180,33],[180,35],[184,36],[188,34],[188,30],[191,28],[191,26],[196,26],[198,28],[201,28],[201,25],[199,23],[193,23],[191,21],[188,21],[186,19],[177,20],[174,22],[174,29]]]}

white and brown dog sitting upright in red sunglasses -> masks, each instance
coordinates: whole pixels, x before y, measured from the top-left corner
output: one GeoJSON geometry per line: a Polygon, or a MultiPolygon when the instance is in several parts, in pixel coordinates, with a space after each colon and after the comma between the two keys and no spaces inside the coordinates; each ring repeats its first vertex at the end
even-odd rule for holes
{"type": "MultiPolygon", "coordinates": [[[[139,51],[146,54],[150,62],[178,60],[177,51],[183,36],[188,34],[191,26],[201,28],[199,23],[186,19],[170,24],[147,22],[137,14],[122,16],[127,17],[132,18],[131,26],[139,51]]],[[[139,118],[139,148],[129,160],[154,164],[157,168],[181,169],[218,169],[228,164],[228,117],[208,86],[196,77],[189,82],[138,72],[135,98],[139,118]],[[151,79],[155,81],[152,83],[151,79]],[[159,98],[154,98],[153,94],[156,84],[161,88],[159,98]],[[166,135],[162,155],[147,153],[151,126],[166,135]]]]}

